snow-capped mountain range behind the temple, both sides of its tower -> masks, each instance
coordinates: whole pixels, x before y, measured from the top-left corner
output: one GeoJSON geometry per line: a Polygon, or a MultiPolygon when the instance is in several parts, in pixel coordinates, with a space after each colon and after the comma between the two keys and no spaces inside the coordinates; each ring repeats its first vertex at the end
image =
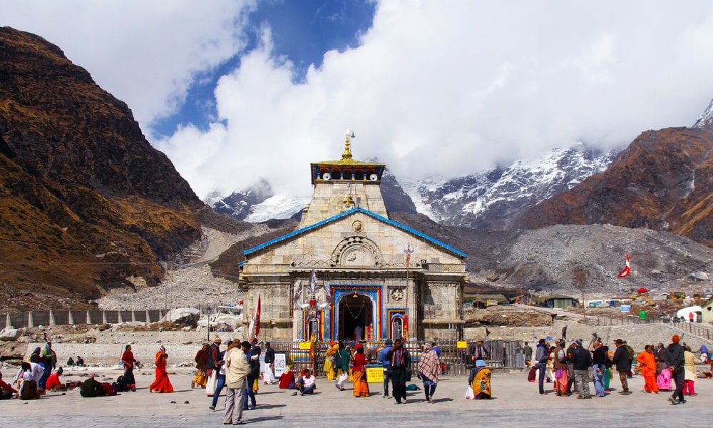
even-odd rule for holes
{"type": "MultiPolygon", "coordinates": [[[[416,181],[385,173],[381,193],[389,212],[418,212],[443,225],[507,230],[523,210],[605,170],[615,154],[580,143],[555,149],[542,158],[450,180],[429,177],[416,181]]],[[[226,198],[211,194],[205,203],[220,213],[260,223],[299,218],[309,198],[273,195],[270,184],[261,180],[226,198]]]]}

